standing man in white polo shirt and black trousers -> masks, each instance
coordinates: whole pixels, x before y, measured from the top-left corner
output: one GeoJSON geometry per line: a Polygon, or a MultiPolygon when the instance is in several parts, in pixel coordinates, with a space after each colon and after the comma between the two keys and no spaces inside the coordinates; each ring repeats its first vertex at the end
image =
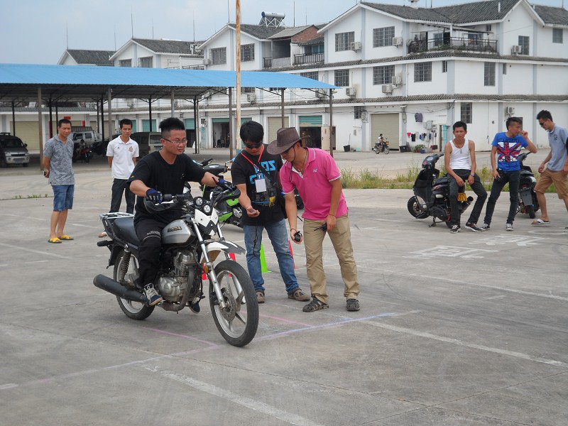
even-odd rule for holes
{"type": "Polygon", "coordinates": [[[110,212],[119,212],[122,194],[126,199],[126,213],[134,212],[136,196],[126,185],[138,158],[138,143],[130,138],[132,133],[132,121],[122,119],[120,121],[121,135],[109,142],[107,147],[107,159],[112,170],[112,198],[110,212]]]}

